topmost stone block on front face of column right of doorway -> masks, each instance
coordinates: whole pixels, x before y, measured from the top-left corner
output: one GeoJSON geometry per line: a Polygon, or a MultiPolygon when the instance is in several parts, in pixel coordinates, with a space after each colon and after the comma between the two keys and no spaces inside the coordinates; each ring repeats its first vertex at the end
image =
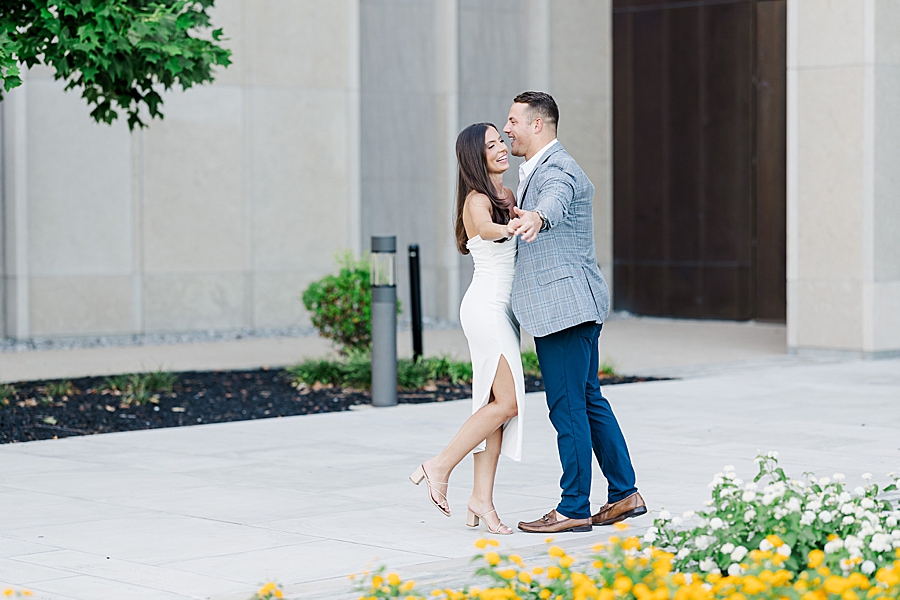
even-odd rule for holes
{"type": "Polygon", "coordinates": [[[860,0],[796,3],[799,67],[858,65],[865,59],[865,4],[860,0]]]}

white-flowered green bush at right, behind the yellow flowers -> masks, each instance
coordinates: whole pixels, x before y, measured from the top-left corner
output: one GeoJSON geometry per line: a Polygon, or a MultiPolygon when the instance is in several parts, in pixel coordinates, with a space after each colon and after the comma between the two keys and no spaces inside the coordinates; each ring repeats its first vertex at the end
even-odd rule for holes
{"type": "Polygon", "coordinates": [[[748,560],[765,559],[799,573],[812,552],[816,566],[868,578],[896,558],[900,510],[878,497],[897,489],[893,474],[883,490],[867,483],[851,492],[840,473],[788,477],[775,452],[758,456],[757,462],[759,473],[747,483],[734,467],[717,473],[709,484],[707,510],[682,517],[660,512],[643,541],[672,552],[675,569],[684,572],[735,575],[746,570],[748,560]],[[694,526],[684,526],[697,519],[694,526]]]}

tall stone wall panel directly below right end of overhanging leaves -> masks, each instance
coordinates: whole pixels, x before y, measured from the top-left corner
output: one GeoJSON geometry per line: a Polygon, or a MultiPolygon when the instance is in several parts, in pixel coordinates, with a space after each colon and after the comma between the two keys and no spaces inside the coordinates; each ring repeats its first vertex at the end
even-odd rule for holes
{"type": "Polygon", "coordinates": [[[144,133],[145,271],[243,270],[241,90],[201,87],[165,102],[165,120],[144,133]]]}

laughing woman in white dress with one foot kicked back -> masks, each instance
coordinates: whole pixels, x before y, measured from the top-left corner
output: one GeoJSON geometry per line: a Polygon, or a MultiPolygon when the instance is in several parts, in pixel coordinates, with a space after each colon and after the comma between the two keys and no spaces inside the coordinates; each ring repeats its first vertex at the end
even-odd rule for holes
{"type": "Polygon", "coordinates": [[[507,228],[515,206],[512,190],[503,187],[508,150],[490,123],[470,125],[456,140],[459,163],[456,191],[456,246],[472,253],[475,274],[459,309],[472,356],[472,416],[439,455],[410,476],[424,479],[428,496],[450,516],[447,483],[454,467],[475,450],[475,483],[466,524],[483,520],[488,531],[510,534],[494,509],[494,475],[500,454],[521,460],[522,402],[525,379],[519,355],[519,323],[510,295],[516,240],[507,228]]]}

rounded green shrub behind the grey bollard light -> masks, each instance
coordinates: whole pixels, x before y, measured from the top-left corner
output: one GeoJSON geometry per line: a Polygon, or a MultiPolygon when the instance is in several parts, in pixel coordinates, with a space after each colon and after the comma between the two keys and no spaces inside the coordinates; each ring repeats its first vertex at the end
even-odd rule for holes
{"type": "Polygon", "coordinates": [[[326,275],[303,292],[303,305],[319,335],[340,344],[344,351],[368,350],[372,345],[372,292],[369,261],[347,252],[338,261],[337,275],[326,275]]]}

